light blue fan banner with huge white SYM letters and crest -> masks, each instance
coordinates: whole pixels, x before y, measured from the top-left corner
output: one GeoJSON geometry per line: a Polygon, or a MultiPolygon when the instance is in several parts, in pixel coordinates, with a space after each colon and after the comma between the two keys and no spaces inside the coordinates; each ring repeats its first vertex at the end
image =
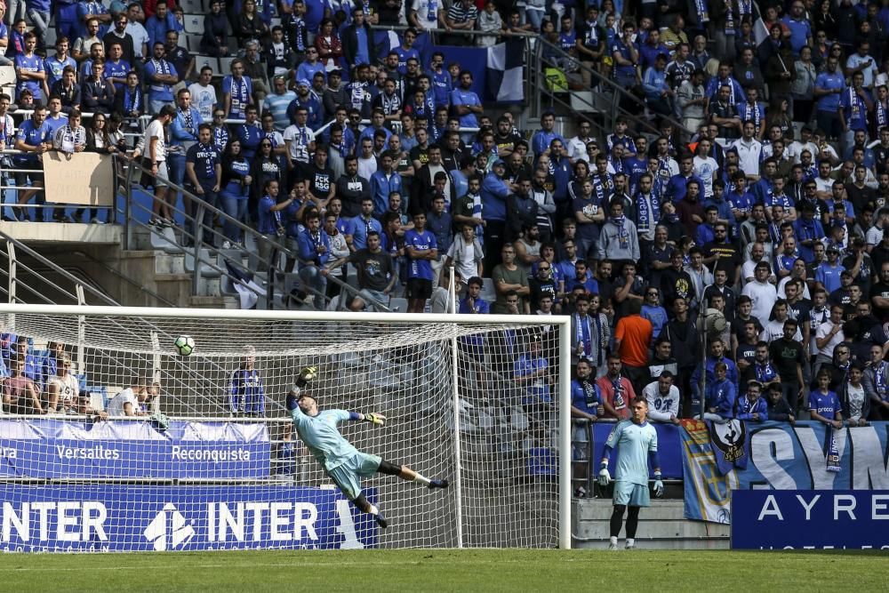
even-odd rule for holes
{"type": "Polygon", "coordinates": [[[738,490],[889,490],[887,422],[829,431],[816,421],[767,421],[746,429],[747,467],[723,474],[704,422],[683,421],[686,518],[732,523],[738,490]]]}

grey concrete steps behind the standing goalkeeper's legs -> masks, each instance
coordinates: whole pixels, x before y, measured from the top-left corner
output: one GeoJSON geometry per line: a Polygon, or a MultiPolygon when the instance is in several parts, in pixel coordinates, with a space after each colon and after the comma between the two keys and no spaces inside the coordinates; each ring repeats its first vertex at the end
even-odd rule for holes
{"type": "MultiPolygon", "coordinates": [[[[572,547],[607,549],[611,499],[572,501],[572,547]]],[[[730,526],[684,517],[682,498],[652,501],[639,514],[636,545],[640,549],[728,549],[730,526]]],[[[622,535],[621,535],[622,538],[622,535]]],[[[621,540],[621,545],[623,541],[621,540]]]]}

